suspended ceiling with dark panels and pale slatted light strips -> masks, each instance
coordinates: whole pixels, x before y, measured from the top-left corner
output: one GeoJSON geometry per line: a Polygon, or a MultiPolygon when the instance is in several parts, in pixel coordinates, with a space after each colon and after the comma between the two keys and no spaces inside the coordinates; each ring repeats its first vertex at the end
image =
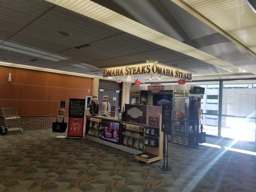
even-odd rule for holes
{"type": "Polygon", "coordinates": [[[244,0],[2,0],[0,63],[102,76],[154,60],[201,79],[256,74],[255,20],[244,0]]]}

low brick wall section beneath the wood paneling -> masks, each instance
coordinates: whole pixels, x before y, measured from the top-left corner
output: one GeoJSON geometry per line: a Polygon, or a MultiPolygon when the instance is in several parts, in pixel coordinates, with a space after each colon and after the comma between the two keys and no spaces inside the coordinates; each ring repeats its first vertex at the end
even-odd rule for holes
{"type": "MultiPolygon", "coordinates": [[[[61,117],[58,117],[58,122],[61,122],[61,120],[61,117]]],[[[55,121],[56,116],[22,116],[19,120],[20,128],[23,130],[52,129],[52,122],[55,121]]],[[[68,123],[68,116],[64,117],[64,122],[68,123]]],[[[3,117],[0,117],[0,126],[4,126],[3,117]]]]}

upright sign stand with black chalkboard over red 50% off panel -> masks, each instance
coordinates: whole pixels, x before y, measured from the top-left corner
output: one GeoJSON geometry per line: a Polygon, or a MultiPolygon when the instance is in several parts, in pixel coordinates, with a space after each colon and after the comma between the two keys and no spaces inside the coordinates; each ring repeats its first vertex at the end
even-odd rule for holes
{"type": "Polygon", "coordinates": [[[67,138],[83,137],[85,99],[70,99],[67,138]]]}

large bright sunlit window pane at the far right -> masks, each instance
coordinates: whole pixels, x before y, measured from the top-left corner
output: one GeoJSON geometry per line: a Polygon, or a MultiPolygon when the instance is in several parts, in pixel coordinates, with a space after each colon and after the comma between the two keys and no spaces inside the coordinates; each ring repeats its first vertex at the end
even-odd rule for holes
{"type": "Polygon", "coordinates": [[[256,81],[224,81],[221,136],[255,140],[256,81]]]}

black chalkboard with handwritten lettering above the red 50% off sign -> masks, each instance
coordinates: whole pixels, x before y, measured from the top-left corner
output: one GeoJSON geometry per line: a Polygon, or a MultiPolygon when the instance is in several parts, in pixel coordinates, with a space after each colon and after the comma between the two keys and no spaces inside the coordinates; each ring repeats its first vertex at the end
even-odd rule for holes
{"type": "Polygon", "coordinates": [[[84,118],[85,99],[70,99],[69,117],[84,118]]]}

